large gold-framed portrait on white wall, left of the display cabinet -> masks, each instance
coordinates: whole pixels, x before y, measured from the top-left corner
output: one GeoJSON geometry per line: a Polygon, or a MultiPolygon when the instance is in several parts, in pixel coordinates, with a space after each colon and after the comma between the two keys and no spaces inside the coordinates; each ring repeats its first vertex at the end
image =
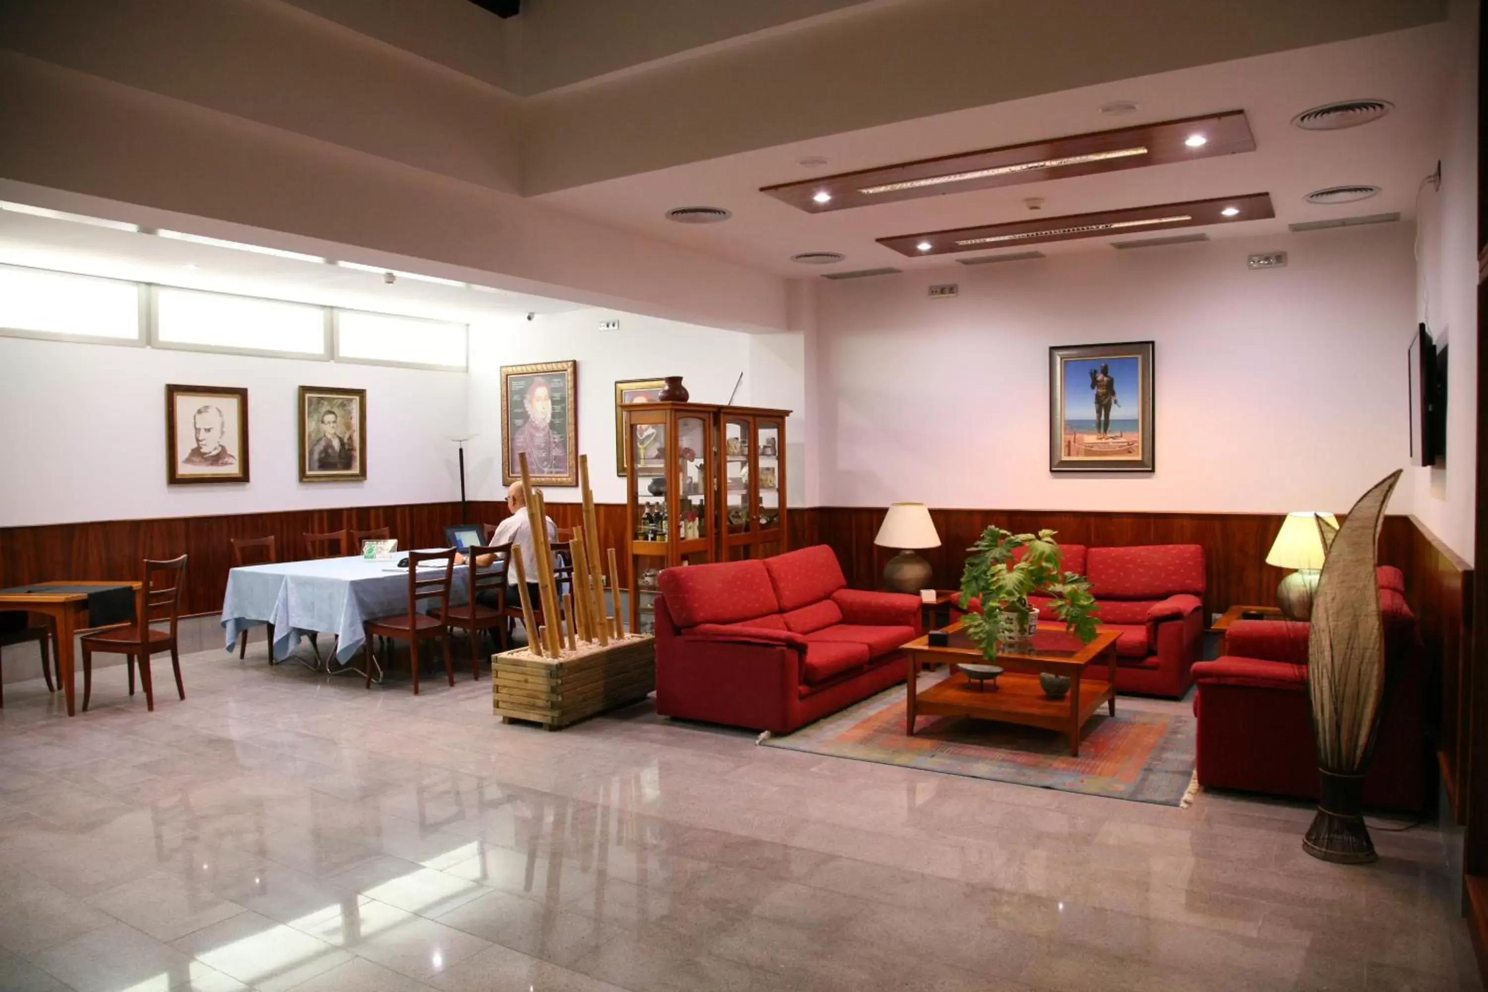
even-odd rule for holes
{"type": "Polygon", "coordinates": [[[579,363],[501,366],[501,482],[579,485],[579,363]]]}

